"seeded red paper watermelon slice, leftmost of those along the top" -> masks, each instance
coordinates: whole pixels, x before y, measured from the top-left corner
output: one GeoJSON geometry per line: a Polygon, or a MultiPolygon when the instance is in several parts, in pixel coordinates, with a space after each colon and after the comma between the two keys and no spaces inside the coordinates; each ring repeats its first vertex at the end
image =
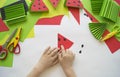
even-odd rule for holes
{"type": "Polygon", "coordinates": [[[43,0],[33,0],[31,12],[43,12],[43,11],[48,11],[48,8],[44,4],[43,0]]]}

